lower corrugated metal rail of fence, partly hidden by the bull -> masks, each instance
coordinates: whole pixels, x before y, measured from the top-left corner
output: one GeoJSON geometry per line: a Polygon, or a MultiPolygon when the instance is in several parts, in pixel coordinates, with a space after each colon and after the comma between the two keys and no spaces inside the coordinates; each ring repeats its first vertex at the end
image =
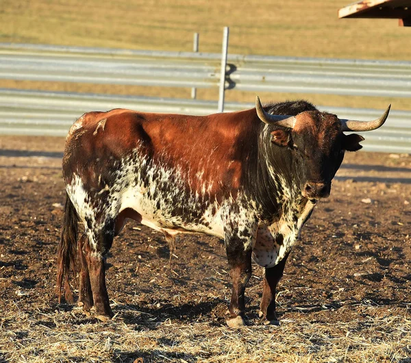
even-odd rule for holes
{"type": "MultiPolygon", "coordinates": [[[[217,101],[129,97],[92,94],[68,94],[29,90],[0,89],[0,134],[66,136],[76,118],[90,110],[129,108],[145,112],[210,114],[217,101]]],[[[227,102],[227,111],[252,108],[253,103],[227,102]]],[[[341,118],[373,119],[381,110],[330,108],[341,118]]],[[[411,112],[391,111],[382,129],[364,133],[364,150],[390,153],[411,152],[411,112]]],[[[361,134],[361,133],[360,133],[361,134]]]]}

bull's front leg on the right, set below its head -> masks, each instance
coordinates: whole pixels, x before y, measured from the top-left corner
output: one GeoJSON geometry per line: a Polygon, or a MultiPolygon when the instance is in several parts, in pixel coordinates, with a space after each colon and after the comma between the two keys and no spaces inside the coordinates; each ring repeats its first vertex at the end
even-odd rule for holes
{"type": "Polygon", "coordinates": [[[264,268],[260,317],[264,318],[264,324],[266,325],[279,325],[277,314],[275,314],[275,290],[277,289],[278,281],[283,276],[287,258],[288,254],[274,267],[264,268]]]}

